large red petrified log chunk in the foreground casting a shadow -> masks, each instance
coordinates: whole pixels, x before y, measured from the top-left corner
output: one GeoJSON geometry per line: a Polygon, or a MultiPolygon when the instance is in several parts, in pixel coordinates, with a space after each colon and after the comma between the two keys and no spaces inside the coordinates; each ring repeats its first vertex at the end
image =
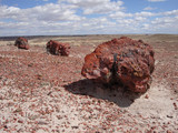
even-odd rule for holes
{"type": "Polygon", "coordinates": [[[81,74],[102,83],[118,83],[146,92],[155,69],[152,48],[142,40],[113,39],[86,55],[81,74]]]}

